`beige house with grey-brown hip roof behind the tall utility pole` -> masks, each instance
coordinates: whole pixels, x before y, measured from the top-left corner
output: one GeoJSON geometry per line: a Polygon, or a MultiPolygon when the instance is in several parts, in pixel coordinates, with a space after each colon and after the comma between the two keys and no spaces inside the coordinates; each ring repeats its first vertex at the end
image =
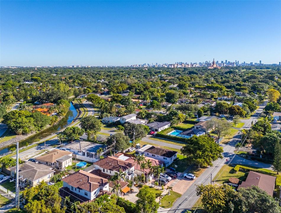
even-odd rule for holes
{"type": "MultiPolygon", "coordinates": [[[[16,166],[9,168],[10,176],[16,177],[16,166]]],[[[49,181],[54,175],[54,168],[35,162],[25,162],[19,165],[19,185],[21,188],[36,186],[42,181],[49,181]]]]}

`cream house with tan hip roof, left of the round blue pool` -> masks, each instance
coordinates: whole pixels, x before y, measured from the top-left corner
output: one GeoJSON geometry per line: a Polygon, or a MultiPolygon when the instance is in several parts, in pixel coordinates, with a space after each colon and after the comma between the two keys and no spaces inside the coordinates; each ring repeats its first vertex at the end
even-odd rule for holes
{"type": "Polygon", "coordinates": [[[72,165],[72,152],[54,149],[37,157],[35,161],[55,169],[64,170],[65,167],[72,165]]]}

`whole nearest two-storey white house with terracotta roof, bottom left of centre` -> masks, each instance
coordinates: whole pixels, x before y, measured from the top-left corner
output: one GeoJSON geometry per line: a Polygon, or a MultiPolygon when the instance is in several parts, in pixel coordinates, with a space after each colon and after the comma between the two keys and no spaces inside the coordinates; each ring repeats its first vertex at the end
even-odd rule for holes
{"type": "Polygon", "coordinates": [[[83,201],[91,201],[101,193],[109,193],[108,180],[100,176],[79,170],[62,179],[60,194],[79,197],[83,201]]]}

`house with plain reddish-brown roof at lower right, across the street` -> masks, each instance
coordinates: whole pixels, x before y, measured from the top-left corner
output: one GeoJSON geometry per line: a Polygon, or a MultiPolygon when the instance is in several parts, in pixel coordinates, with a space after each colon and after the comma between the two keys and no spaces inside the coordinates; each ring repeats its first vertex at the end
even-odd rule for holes
{"type": "Polygon", "coordinates": [[[269,195],[273,196],[274,186],[275,186],[275,176],[265,175],[259,172],[250,171],[246,181],[243,181],[239,186],[239,188],[247,188],[252,185],[258,186],[262,190],[266,191],[269,195]]]}

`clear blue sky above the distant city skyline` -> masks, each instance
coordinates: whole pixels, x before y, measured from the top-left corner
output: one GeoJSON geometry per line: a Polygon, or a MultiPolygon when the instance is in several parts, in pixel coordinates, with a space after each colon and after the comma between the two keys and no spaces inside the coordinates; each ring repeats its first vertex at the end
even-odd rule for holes
{"type": "Polygon", "coordinates": [[[0,65],[281,61],[281,1],[0,1],[0,65]]]}

